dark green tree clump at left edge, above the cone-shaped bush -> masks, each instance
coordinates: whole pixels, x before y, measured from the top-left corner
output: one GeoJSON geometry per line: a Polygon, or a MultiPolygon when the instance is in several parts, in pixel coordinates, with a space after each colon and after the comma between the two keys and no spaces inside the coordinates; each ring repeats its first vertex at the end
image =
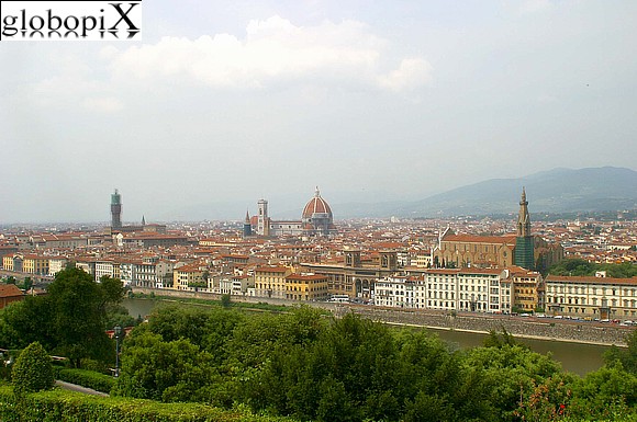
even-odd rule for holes
{"type": "Polygon", "coordinates": [[[102,277],[96,283],[69,266],[57,273],[47,290],[46,296],[27,296],[0,311],[0,347],[23,349],[37,341],[52,354],[68,357],[75,367],[82,358],[114,361],[114,345],[105,330],[113,322],[131,320],[127,315],[109,313],[122,315],[116,307],[124,295],[122,282],[102,277]]]}

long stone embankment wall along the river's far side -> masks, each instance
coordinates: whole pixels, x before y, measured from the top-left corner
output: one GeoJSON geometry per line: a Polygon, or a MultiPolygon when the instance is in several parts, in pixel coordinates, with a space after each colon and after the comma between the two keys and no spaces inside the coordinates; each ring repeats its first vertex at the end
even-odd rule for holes
{"type": "MultiPolygon", "coordinates": [[[[182,292],[153,288],[133,288],[133,293],[145,295],[167,296],[172,298],[197,298],[220,300],[220,295],[202,292],[182,292]]],[[[625,346],[625,338],[635,330],[632,327],[621,327],[611,323],[594,323],[590,321],[571,321],[552,318],[533,318],[519,316],[495,316],[490,313],[457,313],[434,311],[429,309],[394,309],[376,308],[365,305],[331,304],[331,303],[294,303],[284,299],[265,297],[238,297],[233,296],[233,301],[242,303],[267,303],[271,305],[294,306],[309,305],[333,311],[336,316],[344,312],[355,312],[364,318],[372,320],[423,327],[437,330],[460,332],[489,333],[505,329],[514,337],[524,339],[549,340],[569,343],[583,343],[595,345],[625,346]]]]}

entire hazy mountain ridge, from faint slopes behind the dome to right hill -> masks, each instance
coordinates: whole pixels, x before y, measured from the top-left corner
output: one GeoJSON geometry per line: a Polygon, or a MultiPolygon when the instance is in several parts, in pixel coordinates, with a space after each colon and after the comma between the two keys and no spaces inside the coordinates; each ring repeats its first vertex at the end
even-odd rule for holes
{"type": "MultiPolygon", "coordinates": [[[[432,195],[421,201],[399,201],[382,192],[329,192],[325,199],[335,219],[450,217],[517,213],[522,187],[526,189],[528,209],[534,213],[605,212],[637,208],[637,172],[626,168],[552,169],[517,179],[491,179],[432,195]],[[375,202],[370,197],[389,201],[375,202]],[[347,199],[346,199],[347,198],[347,199]]],[[[311,194],[269,198],[273,219],[301,218],[311,194]]],[[[239,220],[246,206],[256,212],[256,199],[209,202],[175,209],[166,220],[239,220]]]]}

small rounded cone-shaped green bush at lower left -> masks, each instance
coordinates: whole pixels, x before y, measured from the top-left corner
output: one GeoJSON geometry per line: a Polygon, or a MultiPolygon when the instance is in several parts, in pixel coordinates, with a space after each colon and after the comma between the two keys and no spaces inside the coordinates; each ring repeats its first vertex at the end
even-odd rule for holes
{"type": "Polygon", "coordinates": [[[13,365],[11,376],[13,391],[19,396],[53,387],[51,357],[38,342],[31,343],[22,351],[13,365]]]}

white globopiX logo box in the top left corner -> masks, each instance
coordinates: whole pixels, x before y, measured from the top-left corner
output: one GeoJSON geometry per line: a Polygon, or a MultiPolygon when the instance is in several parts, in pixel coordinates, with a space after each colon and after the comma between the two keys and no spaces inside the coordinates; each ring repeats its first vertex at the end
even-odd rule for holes
{"type": "Polygon", "coordinates": [[[0,41],[141,41],[142,1],[0,1],[0,41]]]}

